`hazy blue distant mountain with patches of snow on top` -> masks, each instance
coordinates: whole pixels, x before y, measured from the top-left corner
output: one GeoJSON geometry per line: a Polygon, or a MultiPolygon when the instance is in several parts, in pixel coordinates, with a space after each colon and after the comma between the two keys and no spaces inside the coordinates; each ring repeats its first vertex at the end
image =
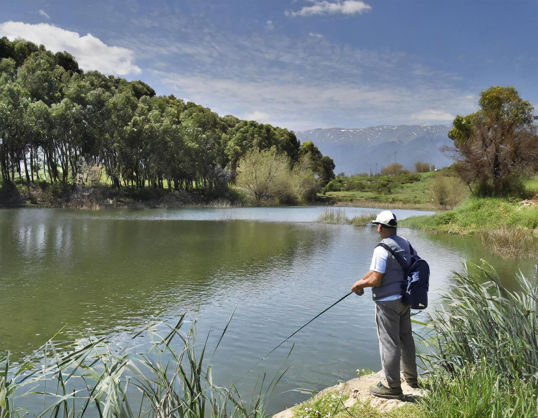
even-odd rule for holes
{"type": "Polygon", "coordinates": [[[448,125],[372,126],[358,129],[310,129],[295,132],[301,142],[312,141],[320,151],[330,156],[336,165],[335,173],[378,172],[394,162],[404,169],[414,170],[416,161],[435,164],[436,168],[452,163],[440,148],[450,145],[448,125]]]}

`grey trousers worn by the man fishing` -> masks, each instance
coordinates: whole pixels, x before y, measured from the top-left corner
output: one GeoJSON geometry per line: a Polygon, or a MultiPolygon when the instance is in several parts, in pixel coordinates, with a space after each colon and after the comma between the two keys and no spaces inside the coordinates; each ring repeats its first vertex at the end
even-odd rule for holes
{"type": "Polygon", "coordinates": [[[417,378],[411,308],[397,299],[376,302],[375,312],[383,371],[389,387],[400,387],[400,359],[404,377],[417,378]]]}

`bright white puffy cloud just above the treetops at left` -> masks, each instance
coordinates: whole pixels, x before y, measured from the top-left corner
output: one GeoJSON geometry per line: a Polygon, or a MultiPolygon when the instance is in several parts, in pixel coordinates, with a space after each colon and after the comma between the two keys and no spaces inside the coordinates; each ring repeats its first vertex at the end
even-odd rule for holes
{"type": "Polygon", "coordinates": [[[7,21],[0,24],[0,37],[24,38],[36,44],[43,44],[53,52],[67,51],[75,56],[84,70],[98,70],[104,74],[140,74],[141,69],[134,64],[134,53],[118,46],[106,45],[92,34],[80,36],[48,23],[32,25],[7,21]]]}

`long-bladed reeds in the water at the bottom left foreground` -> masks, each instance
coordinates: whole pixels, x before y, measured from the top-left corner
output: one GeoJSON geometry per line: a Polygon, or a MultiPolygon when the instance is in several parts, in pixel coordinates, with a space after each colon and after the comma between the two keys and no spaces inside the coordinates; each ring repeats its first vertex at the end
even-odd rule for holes
{"type": "Polygon", "coordinates": [[[175,327],[153,324],[124,347],[93,339],[61,355],[59,344],[49,341],[22,364],[0,358],[0,417],[265,416],[264,399],[281,374],[268,385],[261,380],[249,400],[240,396],[237,382],[230,388],[216,386],[207,359],[208,338],[197,347],[195,325],[184,332],[184,320],[185,315],[175,327]],[[165,326],[167,335],[155,331],[165,326]],[[150,348],[140,352],[147,343],[150,348]]]}

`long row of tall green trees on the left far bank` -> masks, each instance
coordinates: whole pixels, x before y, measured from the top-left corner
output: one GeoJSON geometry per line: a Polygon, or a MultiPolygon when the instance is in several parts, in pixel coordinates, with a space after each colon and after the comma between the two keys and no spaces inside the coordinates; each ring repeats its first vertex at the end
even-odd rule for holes
{"type": "Polygon", "coordinates": [[[5,182],[86,181],[102,167],[117,188],[214,190],[235,180],[252,149],[274,149],[290,169],[308,156],[320,183],[334,176],[332,160],[288,129],[220,117],[141,81],[85,73],[68,53],[0,39],[5,182]]]}

